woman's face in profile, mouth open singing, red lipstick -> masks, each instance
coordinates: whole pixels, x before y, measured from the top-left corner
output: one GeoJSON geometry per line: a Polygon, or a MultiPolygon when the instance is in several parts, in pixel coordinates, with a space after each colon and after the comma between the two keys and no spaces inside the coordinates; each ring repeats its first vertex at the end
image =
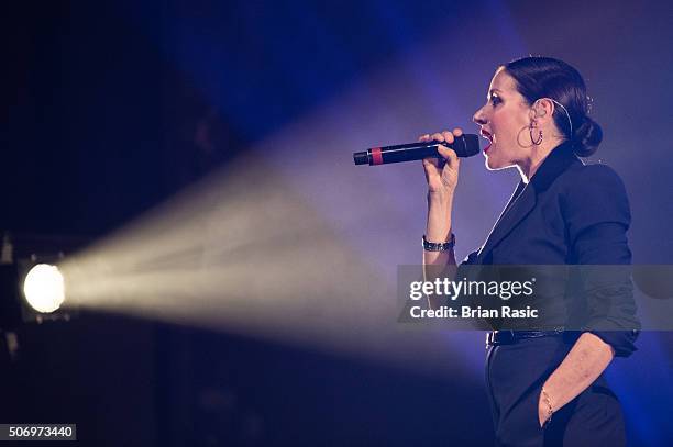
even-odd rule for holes
{"type": "Polygon", "coordinates": [[[482,136],[490,144],[484,149],[486,167],[503,169],[520,165],[530,152],[530,107],[517,91],[515,79],[498,68],[490,81],[486,104],[473,116],[482,136]]]}

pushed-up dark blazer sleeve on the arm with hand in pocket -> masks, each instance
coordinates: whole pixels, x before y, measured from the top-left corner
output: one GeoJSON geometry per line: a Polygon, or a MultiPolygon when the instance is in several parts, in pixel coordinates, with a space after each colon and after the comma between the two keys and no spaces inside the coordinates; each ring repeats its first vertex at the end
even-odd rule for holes
{"type": "MultiPolygon", "coordinates": [[[[613,169],[605,165],[580,169],[561,205],[571,264],[631,264],[626,234],[631,222],[629,201],[624,182],[613,169]]],[[[585,331],[610,345],[616,356],[629,356],[637,349],[640,328],[630,277],[613,275],[606,280],[604,275],[597,275],[587,281],[585,331]]]]}

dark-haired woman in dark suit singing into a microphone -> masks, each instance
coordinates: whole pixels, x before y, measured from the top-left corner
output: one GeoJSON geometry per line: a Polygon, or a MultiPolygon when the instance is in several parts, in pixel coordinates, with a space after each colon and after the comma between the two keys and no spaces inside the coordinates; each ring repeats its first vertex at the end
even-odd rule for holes
{"type": "MultiPolygon", "coordinates": [[[[567,64],[527,57],[499,67],[487,103],[474,114],[486,167],[516,167],[521,182],[479,250],[463,264],[630,264],[626,232],[629,205],[619,177],[604,165],[585,166],[602,131],[588,118],[582,76],[567,64]]],[[[423,135],[451,143],[460,128],[423,135]]],[[[423,160],[428,180],[428,224],[423,265],[455,266],[451,232],[460,160],[440,146],[443,159],[423,160]]],[[[494,332],[488,336],[486,379],[496,444],[512,446],[626,444],[619,402],[603,371],[614,356],[636,348],[632,297],[615,331],[494,332]]],[[[616,316],[616,317],[615,317],[616,316]]],[[[606,325],[602,325],[606,327],[606,325]]],[[[591,326],[589,326],[591,327],[591,326]]]]}

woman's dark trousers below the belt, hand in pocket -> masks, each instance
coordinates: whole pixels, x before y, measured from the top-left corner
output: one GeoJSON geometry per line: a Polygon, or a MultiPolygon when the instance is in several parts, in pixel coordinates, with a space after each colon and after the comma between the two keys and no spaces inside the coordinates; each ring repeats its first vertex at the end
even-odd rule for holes
{"type": "Polygon", "coordinates": [[[621,406],[603,376],[540,427],[542,385],[571,347],[562,337],[542,337],[487,348],[486,385],[496,446],[626,445],[621,406]]]}

